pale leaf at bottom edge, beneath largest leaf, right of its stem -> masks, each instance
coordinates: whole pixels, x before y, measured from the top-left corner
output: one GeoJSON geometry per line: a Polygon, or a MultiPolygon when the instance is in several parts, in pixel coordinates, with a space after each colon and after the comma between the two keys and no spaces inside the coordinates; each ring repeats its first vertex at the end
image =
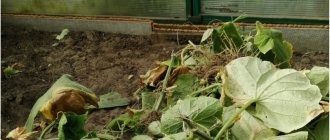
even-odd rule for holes
{"type": "Polygon", "coordinates": [[[265,126],[262,121],[253,117],[247,111],[243,111],[240,119],[231,128],[231,134],[237,140],[264,140],[276,136],[277,133],[265,126]]]}

